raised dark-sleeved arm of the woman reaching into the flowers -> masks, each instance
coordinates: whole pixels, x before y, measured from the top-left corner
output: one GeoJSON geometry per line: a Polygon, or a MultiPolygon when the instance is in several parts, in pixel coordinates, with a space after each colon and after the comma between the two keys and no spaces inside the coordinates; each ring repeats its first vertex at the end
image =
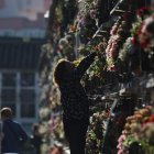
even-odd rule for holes
{"type": "Polygon", "coordinates": [[[89,68],[89,66],[95,61],[96,55],[97,55],[96,52],[94,52],[94,53],[89,54],[88,56],[86,56],[79,63],[79,65],[75,68],[75,77],[76,78],[78,78],[79,80],[81,79],[81,77],[84,76],[84,74],[86,73],[86,70],[89,68]]]}

